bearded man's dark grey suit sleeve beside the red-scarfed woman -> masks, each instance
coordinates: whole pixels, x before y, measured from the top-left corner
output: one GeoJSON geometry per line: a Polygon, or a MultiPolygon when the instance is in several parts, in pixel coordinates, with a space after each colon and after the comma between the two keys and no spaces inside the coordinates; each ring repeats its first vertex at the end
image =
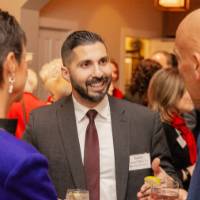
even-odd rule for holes
{"type": "Polygon", "coordinates": [[[181,180],[178,178],[178,175],[173,167],[172,157],[167,144],[164,129],[160,122],[160,117],[157,114],[155,117],[154,130],[155,131],[152,136],[152,159],[159,157],[161,160],[161,167],[167,174],[177,180],[182,187],[181,180]]]}

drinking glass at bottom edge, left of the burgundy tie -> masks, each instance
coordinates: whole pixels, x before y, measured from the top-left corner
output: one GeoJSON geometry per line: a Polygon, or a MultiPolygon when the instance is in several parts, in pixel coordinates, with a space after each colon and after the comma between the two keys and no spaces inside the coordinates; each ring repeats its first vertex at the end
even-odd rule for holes
{"type": "Polygon", "coordinates": [[[66,200],[89,200],[89,191],[82,189],[68,189],[66,200]]]}

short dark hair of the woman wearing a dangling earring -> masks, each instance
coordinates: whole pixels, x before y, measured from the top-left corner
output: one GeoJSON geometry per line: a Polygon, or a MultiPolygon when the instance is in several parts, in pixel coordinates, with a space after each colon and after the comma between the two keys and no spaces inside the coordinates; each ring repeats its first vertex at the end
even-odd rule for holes
{"type": "Polygon", "coordinates": [[[0,83],[3,80],[3,63],[9,52],[21,61],[26,36],[14,16],[0,9],[0,83]]]}

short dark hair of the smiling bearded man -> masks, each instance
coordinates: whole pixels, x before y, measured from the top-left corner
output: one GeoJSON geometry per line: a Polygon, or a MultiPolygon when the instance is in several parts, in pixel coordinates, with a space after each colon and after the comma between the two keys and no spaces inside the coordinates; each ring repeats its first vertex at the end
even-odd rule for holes
{"type": "Polygon", "coordinates": [[[96,42],[101,42],[105,45],[105,42],[97,33],[93,33],[86,30],[75,31],[71,33],[64,41],[61,48],[63,65],[66,66],[66,64],[68,64],[71,61],[72,50],[74,48],[80,45],[93,44],[96,42]]]}

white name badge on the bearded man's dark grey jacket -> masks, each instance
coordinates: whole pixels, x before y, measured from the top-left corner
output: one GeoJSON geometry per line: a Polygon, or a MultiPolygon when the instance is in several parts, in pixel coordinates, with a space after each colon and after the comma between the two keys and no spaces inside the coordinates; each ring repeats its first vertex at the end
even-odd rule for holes
{"type": "Polygon", "coordinates": [[[129,171],[151,168],[149,153],[131,155],[129,157],[129,171]]]}

